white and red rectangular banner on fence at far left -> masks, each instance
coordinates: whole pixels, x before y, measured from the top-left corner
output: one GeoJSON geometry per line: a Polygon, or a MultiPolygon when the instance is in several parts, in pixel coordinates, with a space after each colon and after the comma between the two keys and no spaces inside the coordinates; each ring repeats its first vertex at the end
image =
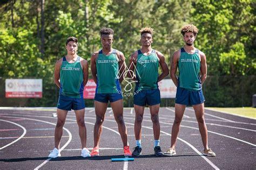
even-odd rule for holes
{"type": "Polygon", "coordinates": [[[42,79],[6,79],[6,98],[42,98],[42,79]]]}

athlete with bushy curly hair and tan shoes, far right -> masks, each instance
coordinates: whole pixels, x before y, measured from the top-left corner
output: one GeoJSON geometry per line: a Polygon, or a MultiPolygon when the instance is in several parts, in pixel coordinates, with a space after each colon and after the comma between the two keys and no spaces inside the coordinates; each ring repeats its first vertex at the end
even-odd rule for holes
{"type": "Polygon", "coordinates": [[[176,141],[180,129],[180,123],[186,105],[192,105],[196,113],[199,131],[204,145],[204,155],[215,156],[215,153],[208,148],[207,127],[204,119],[205,98],[202,91],[202,84],[206,80],[207,65],[206,56],[203,52],[194,47],[194,40],[197,37],[198,29],[194,25],[184,25],[181,34],[185,46],[174,52],[171,61],[171,78],[177,87],[175,100],[175,119],[172,126],[171,147],[164,153],[166,156],[176,154],[176,141]],[[179,69],[179,78],[176,76],[179,69]],[[201,72],[201,76],[200,73],[201,72]]]}

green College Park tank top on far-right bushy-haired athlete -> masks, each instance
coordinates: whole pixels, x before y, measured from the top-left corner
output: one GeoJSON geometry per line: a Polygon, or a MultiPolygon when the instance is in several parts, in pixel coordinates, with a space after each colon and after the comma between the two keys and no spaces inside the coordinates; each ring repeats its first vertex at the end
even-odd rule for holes
{"type": "Polygon", "coordinates": [[[200,58],[199,50],[194,54],[188,54],[184,48],[180,49],[179,68],[179,87],[192,91],[202,88],[200,79],[200,58]]]}

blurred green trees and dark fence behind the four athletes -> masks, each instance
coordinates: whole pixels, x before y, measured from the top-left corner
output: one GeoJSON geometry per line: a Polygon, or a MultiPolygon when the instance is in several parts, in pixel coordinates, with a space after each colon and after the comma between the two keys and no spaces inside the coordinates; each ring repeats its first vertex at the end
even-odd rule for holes
{"type": "MultiPolygon", "coordinates": [[[[66,54],[70,36],[79,40],[78,55],[90,62],[101,47],[99,30],[111,27],[113,48],[125,54],[127,63],[140,48],[140,28],[150,26],[155,31],[152,47],[165,55],[170,67],[172,53],[184,44],[181,26],[194,24],[199,29],[195,46],[207,58],[206,105],[250,106],[256,93],[255,6],[253,0],[3,0],[0,105],[55,107],[53,69],[66,54]],[[5,98],[4,81],[10,78],[43,79],[43,98],[5,98]]],[[[85,103],[93,106],[92,100],[85,103]]],[[[161,103],[173,104],[173,99],[161,103]]],[[[124,105],[131,107],[132,97],[124,97],[124,105]]]]}

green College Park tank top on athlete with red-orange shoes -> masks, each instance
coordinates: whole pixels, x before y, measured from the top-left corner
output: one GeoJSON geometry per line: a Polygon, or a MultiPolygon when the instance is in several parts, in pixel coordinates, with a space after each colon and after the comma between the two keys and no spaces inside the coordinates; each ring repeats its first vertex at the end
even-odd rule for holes
{"type": "Polygon", "coordinates": [[[104,55],[102,50],[99,51],[96,60],[97,94],[122,93],[118,77],[119,63],[116,52],[116,49],[113,49],[110,55],[104,55]]]}

